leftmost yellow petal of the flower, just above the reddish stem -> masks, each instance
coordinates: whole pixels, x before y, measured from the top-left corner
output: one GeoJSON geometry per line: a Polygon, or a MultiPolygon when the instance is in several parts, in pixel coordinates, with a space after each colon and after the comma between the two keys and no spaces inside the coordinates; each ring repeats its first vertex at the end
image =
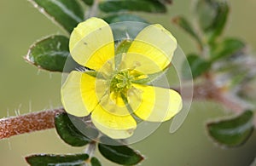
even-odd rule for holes
{"type": "Polygon", "coordinates": [[[71,72],[61,87],[61,101],[65,110],[77,117],[89,115],[98,103],[95,84],[96,77],[84,72],[71,72]]]}

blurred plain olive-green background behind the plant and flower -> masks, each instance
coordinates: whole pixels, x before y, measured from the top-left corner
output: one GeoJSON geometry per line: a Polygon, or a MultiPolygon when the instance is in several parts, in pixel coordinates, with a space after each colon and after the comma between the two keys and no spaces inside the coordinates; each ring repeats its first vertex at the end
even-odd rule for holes
{"type": "MultiPolygon", "coordinates": [[[[188,0],[176,0],[169,14],[143,16],[171,30],[184,52],[189,53],[195,50],[195,43],[177,26],[173,26],[171,20],[177,14],[193,19],[192,4],[188,0]]],[[[255,53],[256,1],[232,0],[230,4],[231,14],[226,35],[240,37],[255,53]]],[[[27,64],[23,56],[39,38],[64,32],[26,0],[0,1],[0,30],[0,117],[61,106],[61,74],[38,71],[36,67],[27,64]]],[[[146,166],[249,165],[256,156],[255,132],[244,146],[232,149],[216,146],[207,137],[206,122],[228,114],[230,112],[224,112],[223,107],[217,103],[195,101],[185,123],[176,133],[168,132],[171,122],[163,123],[153,135],[132,146],[146,156],[147,159],[142,163],[146,166]]],[[[55,130],[50,129],[0,140],[0,165],[27,165],[24,157],[32,153],[81,151],[82,148],[67,146],[55,130]]],[[[103,158],[101,160],[103,165],[114,165],[103,158]]]]}

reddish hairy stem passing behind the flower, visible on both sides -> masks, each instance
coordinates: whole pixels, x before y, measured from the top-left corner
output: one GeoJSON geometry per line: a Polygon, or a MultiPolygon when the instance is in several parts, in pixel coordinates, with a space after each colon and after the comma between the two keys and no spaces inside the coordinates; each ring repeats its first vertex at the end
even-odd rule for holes
{"type": "MultiPolygon", "coordinates": [[[[185,91],[186,89],[183,90],[185,91]]],[[[189,99],[188,96],[183,96],[183,100],[186,100],[186,98],[189,99]]],[[[241,113],[246,109],[239,102],[232,100],[229,96],[225,96],[222,89],[214,85],[212,81],[195,85],[193,99],[217,101],[236,113],[241,113]]],[[[58,112],[65,112],[65,110],[59,108],[0,119],[0,139],[44,129],[52,129],[55,127],[54,117],[58,112]]]]}

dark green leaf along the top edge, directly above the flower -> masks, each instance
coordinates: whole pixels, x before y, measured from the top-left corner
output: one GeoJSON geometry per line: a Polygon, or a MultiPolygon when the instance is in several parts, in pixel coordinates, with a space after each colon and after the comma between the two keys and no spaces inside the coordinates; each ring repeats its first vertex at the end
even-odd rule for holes
{"type": "Polygon", "coordinates": [[[106,13],[119,11],[166,13],[166,6],[155,0],[106,0],[99,3],[99,8],[106,13]]]}

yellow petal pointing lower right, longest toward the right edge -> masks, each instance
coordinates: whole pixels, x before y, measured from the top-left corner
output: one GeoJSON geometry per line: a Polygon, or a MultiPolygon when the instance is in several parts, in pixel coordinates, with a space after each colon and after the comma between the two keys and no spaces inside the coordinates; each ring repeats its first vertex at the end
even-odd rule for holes
{"type": "MultiPolygon", "coordinates": [[[[172,89],[163,89],[141,84],[133,84],[141,90],[142,102],[134,112],[138,117],[150,122],[164,122],[177,114],[182,108],[180,94],[172,89]]],[[[133,108],[131,103],[131,107],[133,108]]]]}

